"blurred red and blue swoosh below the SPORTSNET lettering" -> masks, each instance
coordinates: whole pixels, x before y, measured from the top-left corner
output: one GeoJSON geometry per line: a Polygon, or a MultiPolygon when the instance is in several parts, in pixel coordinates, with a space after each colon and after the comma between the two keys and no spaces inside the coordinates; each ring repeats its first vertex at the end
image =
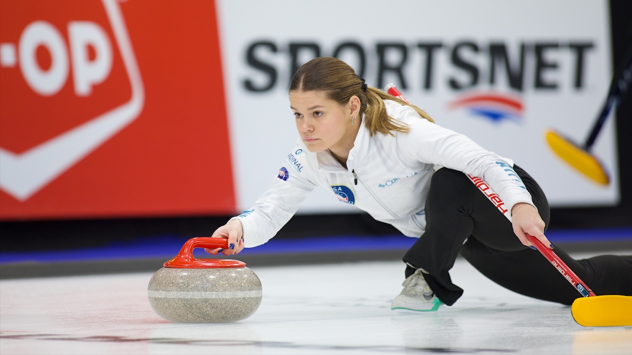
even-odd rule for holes
{"type": "Polygon", "coordinates": [[[502,120],[520,121],[525,106],[522,98],[498,92],[465,93],[447,104],[449,110],[466,109],[473,116],[480,116],[494,123],[502,120]]]}

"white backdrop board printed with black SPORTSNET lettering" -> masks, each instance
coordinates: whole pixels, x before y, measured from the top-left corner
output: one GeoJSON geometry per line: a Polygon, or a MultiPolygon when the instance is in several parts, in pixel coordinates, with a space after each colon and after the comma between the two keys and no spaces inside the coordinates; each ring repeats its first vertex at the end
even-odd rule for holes
{"type": "MultiPolygon", "coordinates": [[[[514,159],[538,180],[553,207],[619,200],[613,117],[592,149],[611,174],[607,187],[569,168],[544,140],[545,131],[554,128],[583,143],[595,122],[612,72],[605,0],[219,0],[217,10],[238,208],[250,207],[264,192],[298,138],[287,92],[291,44],[312,44],[300,47],[300,65],[315,56],[313,47],[320,56],[332,56],[344,42],[355,44],[365,60],[350,47],[339,57],[356,71],[365,64],[363,76],[371,86],[379,82],[378,48],[390,45],[382,66],[401,68],[406,87],[396,70],[382,71],[382,83],[396,83],[438,124],[514,159]],[[441,46],[430,56],[428,44],[441,46]],[[522,73],[521,82],[509,85],[504,62],[496,58],[492,83],[491,47],[506,49],[511,68],[522,73]],[[476,107],[449,106],[463,95],[489,92],[514,98],[523,108],[483,107],[516,114],[494,120],[473,114],[476,107]]],[[[320,189],[299,212],[333,211],[356,210],[320,189]]]]}

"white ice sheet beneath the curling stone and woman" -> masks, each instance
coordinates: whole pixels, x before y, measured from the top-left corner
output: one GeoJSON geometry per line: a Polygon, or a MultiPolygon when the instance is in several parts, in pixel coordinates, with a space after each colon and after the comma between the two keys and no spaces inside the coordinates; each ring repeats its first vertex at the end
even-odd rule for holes
{"type": "MultiPolygon", "coordinates": [[[[631,254],[631,252],[621,252],[631,254]]],[[[260,267],[250,318],[171,323],[147,301],[152,274],[0,281],[1,354],[629,354],[632,327],[585,328],[568,306],[495,285],[465,260],[465,294],[435,313],[391,311],[403,263],[260,267]]],[[[570,287],[570,286],[569,286],[570,287]]]]}

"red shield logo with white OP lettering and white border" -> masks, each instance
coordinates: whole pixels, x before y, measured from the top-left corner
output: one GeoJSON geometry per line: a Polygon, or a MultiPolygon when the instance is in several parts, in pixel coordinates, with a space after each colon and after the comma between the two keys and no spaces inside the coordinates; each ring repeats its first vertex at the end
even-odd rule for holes
{"type": "Polygon", "coordinates": [[[0,190],[20,201],[128,126],[145,102],[118,1],[59,3],[3,0],[0,15],[0,190]]]}

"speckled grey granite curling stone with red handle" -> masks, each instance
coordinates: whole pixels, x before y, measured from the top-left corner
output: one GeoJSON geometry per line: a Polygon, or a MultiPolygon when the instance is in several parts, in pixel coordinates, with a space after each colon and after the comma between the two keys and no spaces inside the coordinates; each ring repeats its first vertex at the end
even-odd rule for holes
{"type": "Polygon", "coordinates": [[[197,259],[195,248],[228,248],[228,239],[191,238],[178,255],[149,280],[149,303],[173,322],[221,323],[243,320],[261,304],[261,281],[246,263],[197,259]]]}

